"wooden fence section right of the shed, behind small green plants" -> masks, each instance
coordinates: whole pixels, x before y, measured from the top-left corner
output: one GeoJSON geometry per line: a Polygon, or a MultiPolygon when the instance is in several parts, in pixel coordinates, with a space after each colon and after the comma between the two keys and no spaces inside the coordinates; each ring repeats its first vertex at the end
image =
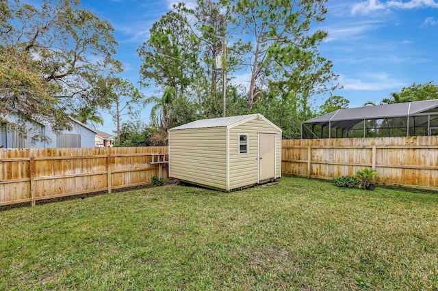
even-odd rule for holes
{"type": "Polygon", "coordinates": [[[438,137],[283,141],[283,174],[331,179],[365,167],[381,184],[438,190],[438,137]]]}

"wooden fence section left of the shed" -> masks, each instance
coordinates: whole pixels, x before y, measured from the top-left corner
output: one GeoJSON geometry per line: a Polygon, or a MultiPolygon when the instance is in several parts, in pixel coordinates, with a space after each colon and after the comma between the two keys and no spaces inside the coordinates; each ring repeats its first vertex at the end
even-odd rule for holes
{"type": "Polygon", "coordinates": [[[0,206],[168,178],[167,147],[0,149],[0,206]]]}

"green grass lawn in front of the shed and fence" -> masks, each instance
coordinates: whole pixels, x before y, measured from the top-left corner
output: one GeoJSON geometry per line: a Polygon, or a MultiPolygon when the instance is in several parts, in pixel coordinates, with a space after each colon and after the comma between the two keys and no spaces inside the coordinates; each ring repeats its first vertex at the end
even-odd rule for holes
{"type": "Polygon", "coordinates": [[[437,290],[438,195],[283,177],[0,211],[0,290],[437,290]]]}

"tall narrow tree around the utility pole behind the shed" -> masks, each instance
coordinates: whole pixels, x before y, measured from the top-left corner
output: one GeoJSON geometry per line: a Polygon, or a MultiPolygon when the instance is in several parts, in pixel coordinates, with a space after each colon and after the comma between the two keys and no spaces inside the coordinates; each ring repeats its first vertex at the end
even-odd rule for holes
{"type": "Polygon", "coordinates": [[[197,5],[193,14],[193,30],[201,45],[198,59],[201,69],[197,71],[190,89],[194,90],[201,118],[220,117],[223,113],[223,90],[229,105],[226,110],[229,111],[233,105],[228,102],[228,96],[236,88],[229,76],[242,68],[245,46],[241,39],[231,39],[230,26],[235,23],[235,14],[227,1],[198,0],[197,5]],[[217,64],[218,60],[220,64],[217,64]]]}

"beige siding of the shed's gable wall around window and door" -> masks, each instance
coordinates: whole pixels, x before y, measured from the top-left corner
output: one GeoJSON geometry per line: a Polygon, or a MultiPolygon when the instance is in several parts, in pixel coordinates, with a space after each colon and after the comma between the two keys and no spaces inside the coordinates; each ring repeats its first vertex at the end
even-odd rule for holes
{"type": "Polygon", "coordinates": [[[259,133],[276,134],[275,176],[281,177],[281,132],[265,120],[251,120],[229,130],[230,190],[259,182],[259,133]],[[239,134],[248,134],[248,154],[238,153],[239,134]]]}

